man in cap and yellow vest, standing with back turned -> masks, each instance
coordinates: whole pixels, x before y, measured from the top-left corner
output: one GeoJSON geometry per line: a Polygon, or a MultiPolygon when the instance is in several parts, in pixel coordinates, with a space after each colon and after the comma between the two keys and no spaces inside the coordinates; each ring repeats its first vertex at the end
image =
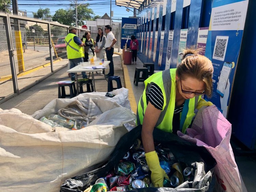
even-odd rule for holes
{"type": "MultiPolygon", "coordinates": [[[[69,59],[70,69],[78,65],[78,63],[83,62],[84,51],[83,46],[84,43],[79,39],[76,35],[76,30],[73,26],[69,26],[69,33],[65,38],[65,43],[67,46],[67,56],[69,59]]],[[[71,80],[75,79],[75,73],[70,73],[71,80]]],[[[87,79],[87,75],[85,72],[82,72],[83,78],[87,79]]]]}

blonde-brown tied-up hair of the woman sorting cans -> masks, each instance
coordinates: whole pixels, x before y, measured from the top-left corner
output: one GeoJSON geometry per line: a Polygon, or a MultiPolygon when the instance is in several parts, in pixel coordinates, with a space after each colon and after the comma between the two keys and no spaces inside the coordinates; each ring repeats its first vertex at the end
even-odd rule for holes
{"type": "Polygon", "coordinates": [[[200,49],[184,49],[181,64],[177,67],[176,75],[181,79],[193,77],[205,83],[205,94],[212,96],[212,62],[205,56],[200,55],[200,49]]]}

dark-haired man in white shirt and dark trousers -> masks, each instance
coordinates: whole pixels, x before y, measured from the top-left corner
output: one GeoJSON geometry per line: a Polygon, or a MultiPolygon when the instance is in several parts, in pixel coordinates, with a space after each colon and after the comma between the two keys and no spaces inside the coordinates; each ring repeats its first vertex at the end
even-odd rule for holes
{"type": "Polygon", "coordinates": [[[106,43],[105,43],[105,50],[106,50],[106,57],[109,63],[109,73],[106,74],[106,77],[114,76],[114,63],[113,63],[113,54],[114,54],[114,44],[116,43],[116,39],[114,34],[112,33],[112,27],[110,25],[105,26],[105,33],[107,34],[106,43]]]}

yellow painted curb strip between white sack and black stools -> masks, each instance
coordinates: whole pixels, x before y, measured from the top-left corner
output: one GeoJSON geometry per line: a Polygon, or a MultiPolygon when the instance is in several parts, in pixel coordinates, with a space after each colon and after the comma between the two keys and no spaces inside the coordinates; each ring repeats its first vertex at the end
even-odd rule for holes
{"type": "Polygon", "coordinates": [[[132,85],[130,81],[130,76],[128,73],[127,66],[122,62],[122,68],[123,68],[123,73],[124,73],[124,81],[125,81],[125,88],[128,89],[128,99],[131,104],[131,109],[132,111],[136,114],[137,113],[137,103],[135,100],[135,96],[132,90],[132,85]]]}

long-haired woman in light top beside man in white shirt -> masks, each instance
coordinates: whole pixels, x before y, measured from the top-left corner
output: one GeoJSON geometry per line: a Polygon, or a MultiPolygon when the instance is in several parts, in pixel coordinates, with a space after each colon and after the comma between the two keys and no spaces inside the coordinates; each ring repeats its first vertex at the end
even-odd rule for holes
{"type": "Polygon", "coordinates": [[[100,59],[104,59],[105,43],[106,43],[106,36],[103,35],[103,30],[99,28],[98,35],[96,38],[95,52],[96,52],[96,57],[100,59]]]}

